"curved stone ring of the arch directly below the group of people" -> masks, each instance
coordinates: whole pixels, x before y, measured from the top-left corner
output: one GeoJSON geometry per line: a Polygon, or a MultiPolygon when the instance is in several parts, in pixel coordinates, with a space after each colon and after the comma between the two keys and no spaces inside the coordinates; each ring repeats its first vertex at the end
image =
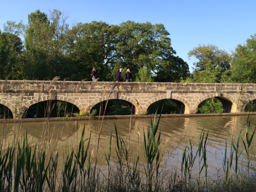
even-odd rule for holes
{"type": "Polygon", "coordinates": [[[88,107],[87,112],[90,112],[92,110],[92,108],[94,106],[96,106],[97,104],[99,104],[100,102],[107,101],[107,100],[124,100],[124,101],[128,102],[131,105],[132,114],[137,114],[138,113],[138,106],[140,106],[140,105],[136,100],[131,99],[131,98],[126,97],[126,96],[120,96],[120,98],[116,98],[116,97],[113,96],[113,94],[111,94],[110,96],[104,96],[104,97],[98,98],[97,100],[93,100],[91,102],[91,105],[88,107]]]}

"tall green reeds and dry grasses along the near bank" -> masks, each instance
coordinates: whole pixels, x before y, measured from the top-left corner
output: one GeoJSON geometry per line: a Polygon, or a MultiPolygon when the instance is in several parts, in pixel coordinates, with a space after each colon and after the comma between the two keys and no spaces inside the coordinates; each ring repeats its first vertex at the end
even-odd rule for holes
{"type": "MultiPolygon", "coordinates": [[[[178,166],[170,166],[163,154],[161,116],[138,136],[138,149],[130,150],[130,134],[120,135],[115,125],[103,145],[102,122],[97,129],[74,127],[74,138],[60,151],[61,131],[52,139],[47,123],[40,138],[21,135],[22,124],[12,131],[13,141],[6,142],[7,130],[1,130],[0,190],[1,191],[104,191],[104,192],[236,192],[254,191],[256,171],[254,161],[255,128],[250,116],[242,132],[229,133],[223,151],[222,164],[209,174],[207,151],[208,132],[202,131],[197,141],[190,139],[182,147],[178,166]],[[95,133],[93,135],[92,133],[95,133]],[[33,141],[32,141],[33,140],[33,141]],[[142,142],[139,142],[142,140],[142,142]],[[62,158],[63,157],[63,158],[62,158]],[[103,157],[102,159],[100,157],[103,157]]],[[[45,118],[48,121],[48,118],[45,118]]],[[[89,123],[88,123],[89,124],[89,123]]],[[[172,154],[168,154],[172,156],[172,154]]]]}

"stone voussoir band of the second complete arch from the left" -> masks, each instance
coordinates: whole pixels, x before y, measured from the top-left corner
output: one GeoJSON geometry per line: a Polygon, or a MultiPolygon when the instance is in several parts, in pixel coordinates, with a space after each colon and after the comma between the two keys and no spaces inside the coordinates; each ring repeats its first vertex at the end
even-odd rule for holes
{"type": "Polygon", "coordinates": [[[124,100],[124,101],[126,101],[126,102],[132,104],[132,105],[134,106],[134,108],[135,108],[135,114],[138,114],[138,113],[139,113],[138,107],[139,107],[140,105],[139,105],[139,103],[138,103],[136,100],[131,99],[131,98],[127,97],[127,96],[122,96],[122,95],[119,96],[119,97],[116,97],[116,96],[114,96],[114,94],[111,94],[110,96],[103,96],[103,97],[100,97],[100,98],[98,98],[98,99],[96,99],[96,100],[93,100],[93,101],[90,103],[90,106],[88,106],[88,107],[85,109],[85,111],[89,113],[90,110],[91,110],[96,104],[98,104],[98,103],[100,103],[100,102],[103,102],[103,101],[106,101],[106,100],[112,100],[112,99],[120,99],[120,100],[124,100]]]}

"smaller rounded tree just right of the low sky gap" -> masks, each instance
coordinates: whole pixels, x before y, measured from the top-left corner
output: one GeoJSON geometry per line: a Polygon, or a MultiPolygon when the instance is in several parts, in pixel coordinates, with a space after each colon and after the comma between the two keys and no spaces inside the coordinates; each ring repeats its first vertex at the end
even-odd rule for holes
{"type": "Polygon", "coordinates": [[[195,68],[186,82],[220,83],[225,71],[230,69],[230,55],[214,45],[199,44],[188,53],[188,58],[192,57],[196,59],[193,63],[195,68]]]}

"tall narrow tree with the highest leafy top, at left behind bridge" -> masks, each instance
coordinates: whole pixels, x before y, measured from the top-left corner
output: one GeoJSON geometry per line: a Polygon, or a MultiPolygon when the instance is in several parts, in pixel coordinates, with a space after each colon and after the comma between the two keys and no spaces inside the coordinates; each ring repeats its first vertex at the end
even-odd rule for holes
{"type": "Polygon", "coordinates": [[[50,69],[47,64],[47,56],[51,39],[52,30],[47,15],[40,10],[28,15],[25,38],[25,72],[29,79],[38,79],[38,74],[40,74],[39,80],[49,78],[50,69]]]}

